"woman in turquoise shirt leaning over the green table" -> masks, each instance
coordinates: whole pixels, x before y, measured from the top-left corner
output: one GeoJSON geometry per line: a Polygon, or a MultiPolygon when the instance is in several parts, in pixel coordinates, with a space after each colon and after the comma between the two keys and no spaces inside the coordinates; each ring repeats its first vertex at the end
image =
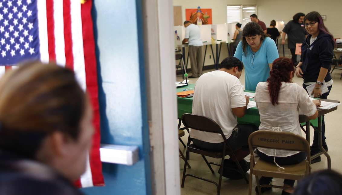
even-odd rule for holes
{"type": "Polygon", "coordinates": [[[278,49],[275,42],[255,22],[246,24],[241,40],[234,57],[244,63],[246,90],[255,91],[257,84],[265,82],[269,77],[273,61],[279,57],[278,49]]]}

